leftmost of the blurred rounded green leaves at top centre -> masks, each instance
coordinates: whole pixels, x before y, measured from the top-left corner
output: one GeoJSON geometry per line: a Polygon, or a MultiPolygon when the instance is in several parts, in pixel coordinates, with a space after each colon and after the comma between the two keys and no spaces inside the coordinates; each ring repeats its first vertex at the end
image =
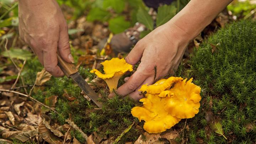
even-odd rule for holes
{"type": "Polygon", "coordinates": [[[106,21],[109,18],[108,14],[108,11],[95,7],[89,11],[87,21],[106,21]]]}

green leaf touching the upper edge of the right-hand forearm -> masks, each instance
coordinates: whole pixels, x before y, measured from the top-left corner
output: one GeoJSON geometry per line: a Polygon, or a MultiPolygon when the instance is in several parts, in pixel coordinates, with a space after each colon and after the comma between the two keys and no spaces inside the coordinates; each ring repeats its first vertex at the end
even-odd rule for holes
{"type": "Polygon", "coordinates": [[[156,26],[161,26],[176,15],[176,7],[174,5],[163,5],[158,7],[156,16],[156,26]]]}

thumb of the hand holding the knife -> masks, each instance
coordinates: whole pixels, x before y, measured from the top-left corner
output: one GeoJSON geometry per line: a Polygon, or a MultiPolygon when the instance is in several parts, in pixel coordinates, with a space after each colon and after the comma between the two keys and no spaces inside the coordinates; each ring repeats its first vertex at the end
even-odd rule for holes
{"type": "Polygon", "coordinates": [[[69,36],[68,36],[68,25],[65,23],[64,26],[60,26],[60,36],[58,42],[58,51],[60,56],[68,63],[74,63],[74,58],[71,55],[69,36]]]}

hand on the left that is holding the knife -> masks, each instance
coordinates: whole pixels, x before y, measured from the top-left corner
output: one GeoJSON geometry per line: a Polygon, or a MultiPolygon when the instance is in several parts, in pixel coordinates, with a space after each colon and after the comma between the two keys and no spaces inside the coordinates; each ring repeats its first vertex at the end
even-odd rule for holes
{"type": "Polygon", "coordinates": [[[19,33],[38,56],[45,70],[63,76],[57,65],[57,50],[68,63],[74,63],[70,52],[68,25],[55,0],[20,0],[19,33]]]}

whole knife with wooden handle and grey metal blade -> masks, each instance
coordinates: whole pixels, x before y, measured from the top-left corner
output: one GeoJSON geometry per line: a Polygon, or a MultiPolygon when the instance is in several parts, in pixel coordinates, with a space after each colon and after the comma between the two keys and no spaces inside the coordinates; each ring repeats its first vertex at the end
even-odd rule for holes
{"type": "Polygon", "coordinates": [[[58,58],[58,66],[63,71],[63,73],[68,77],[75,81],[76,84],[84,91],[86,95],[88,95],[92,102],[94,102],[99,108],[102,108],[102,103],[98,102],[98,95],[89,84],[82,78],[82,76],[79,74],[78,69],[76,66],[72,63],[65,62],[62,57],[57,53],[58,58]]]}

